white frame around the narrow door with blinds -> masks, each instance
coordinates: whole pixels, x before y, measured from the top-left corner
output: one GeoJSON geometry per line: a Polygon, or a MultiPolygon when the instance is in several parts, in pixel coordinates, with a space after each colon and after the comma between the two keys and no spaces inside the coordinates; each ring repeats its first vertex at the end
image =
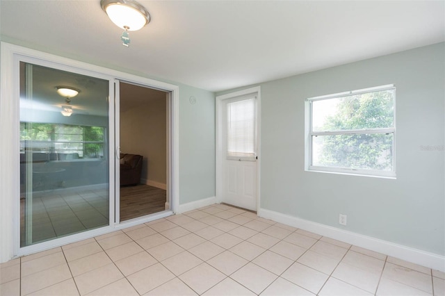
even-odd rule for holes
{"type": "Polygon", "coordinates": [[[245,90],[239,90],[237,92],[231,92],[229,94],[222,94],[216,97],[216,201],[218,203],[223,202],[223,155],[225,149],[222,147],[223,143],[223,101],[225,99],[232,99],[234,97],[240,97],[245,94],[257,93],[257,212],[260,205],[260,176],[261,176],[261,86],[255,86],[254,88],[248,88],[245,90]]]}

